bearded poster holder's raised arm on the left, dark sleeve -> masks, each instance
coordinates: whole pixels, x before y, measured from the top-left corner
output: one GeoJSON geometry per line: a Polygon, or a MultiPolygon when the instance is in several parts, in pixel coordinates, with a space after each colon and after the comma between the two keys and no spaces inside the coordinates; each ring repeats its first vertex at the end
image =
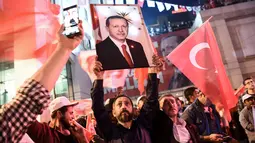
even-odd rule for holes
{"type": "MultiPolygon", "coordinates": [[[[96,59],[97,60],[97,59],[96,59]]],[[[93,68],[95,81],[93,82],[93,87],[91,89],[91,98],[92,98],[92,110],[94,112],[97,127],[102,132],[106,140],[107,137],[111,137],[112,133],[112,122],[110,120],[109,113],[104,107],[104,88],[103,88],[103,71],[102,64],[99,61],[95,62],[93,68]]]]}

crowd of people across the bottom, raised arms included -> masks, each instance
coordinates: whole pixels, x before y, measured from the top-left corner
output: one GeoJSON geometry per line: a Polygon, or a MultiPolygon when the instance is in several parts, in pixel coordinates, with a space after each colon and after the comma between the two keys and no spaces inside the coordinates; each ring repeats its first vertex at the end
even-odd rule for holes
{"type": "Polygon", "coordinates": [[[157,55],[153,55],[155,67],[148,70],[146,95],[138,99],[137,109],[123,92],[104,102],[104,71],[95,59],[95,80],[91,89],[93,118],[90,118],[93,124],[88,130],[88,117],[74,117],[73,107],[77,102],[71,103],[66,97],[57,97],[50,102],[49,93],[71,51],[82,41],[81,21],[79,30],[82,34],[70,39],[62,34],[62,26],[58,33],[59,44],[52,56],[23,84],[15,98],[0,108],[1,143],[19,142],[25,133],[36,143],[235,143],[247,142],[247,139],[255,142],[252,78],[244,80],[246,93],[240,96],[238,110],[233,109],[228,126],[223,114],[196,87],[185,90],[189,102],[185,109],[184,102],[172,94],[159,96],[157,73],[162,71],[164,60],[157,55]],[[50,122],[38,122],[37,115],[48,106],[50,122]]]}

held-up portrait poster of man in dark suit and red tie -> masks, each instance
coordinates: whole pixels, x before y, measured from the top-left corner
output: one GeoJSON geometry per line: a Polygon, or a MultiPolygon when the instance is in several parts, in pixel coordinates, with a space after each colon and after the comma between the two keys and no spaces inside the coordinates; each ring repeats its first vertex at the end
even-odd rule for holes
{"type": "Polygon", "coordinates": [[[103,70],[153,66],[153,46],[137,5],[91,5],[103,70]]]}

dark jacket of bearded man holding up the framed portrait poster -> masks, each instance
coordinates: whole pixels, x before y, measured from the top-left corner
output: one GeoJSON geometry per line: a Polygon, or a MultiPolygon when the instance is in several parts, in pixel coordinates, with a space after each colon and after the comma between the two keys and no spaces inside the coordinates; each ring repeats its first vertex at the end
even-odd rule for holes
{"type": "Polygon", "coordinates": [[[104,107],[103,80],[96,80],[91,90],[92,110],[97,121],[97,127],[101,130],[106,142],[111,143],[150,143],[151,138],[148,133],[151,130],[152,117],[157,109],[158,83],[157,75],[149,74],[148,101],[140,111],[140,115],[130,129],[124,128],[120,124],[111,122],[108,112],[104,107]]]}

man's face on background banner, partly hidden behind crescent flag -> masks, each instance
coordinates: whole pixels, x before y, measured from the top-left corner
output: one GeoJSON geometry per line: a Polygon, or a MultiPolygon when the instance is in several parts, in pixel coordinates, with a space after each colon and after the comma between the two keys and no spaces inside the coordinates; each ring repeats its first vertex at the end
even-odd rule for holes
{"type": "Polygon", "coordinates": [[[166,56],[169,55],[178,45],[179,42],[177,36],[171,36],[161,40],[160,50],[168,65],[170,65],[170,62],[166,59],[166,56]]]}

